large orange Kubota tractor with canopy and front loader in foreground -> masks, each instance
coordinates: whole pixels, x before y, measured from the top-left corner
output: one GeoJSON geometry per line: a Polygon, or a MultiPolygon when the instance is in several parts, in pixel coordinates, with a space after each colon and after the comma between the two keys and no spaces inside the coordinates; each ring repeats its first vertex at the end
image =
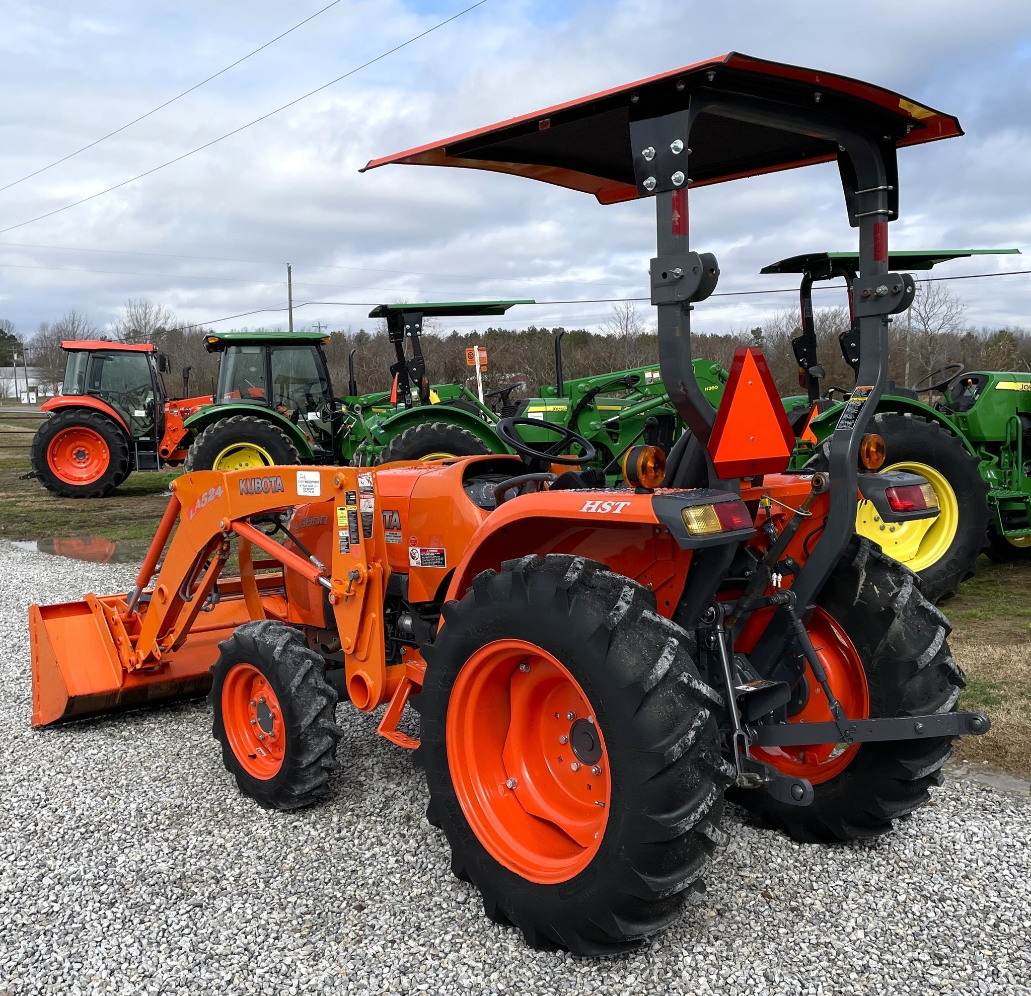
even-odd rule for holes
{"type": "Polygon", "coordinates": [[[329,792],[338,699],[386,705],[379,732],[414,749],[487,915],[579,954],[676,916],[726,839],[726,792],[798,840],[884,833],[953,740],[989,728],[956,711],[944,617],[853,533],[860,495],[886,522],[936,512],[922,478],[861,459],[913,293],[887,272],[896,148],[958,134],[889,91],[730,55],[371,164],[655,196],[660,363],[690,444],[668,470],[631,450],[619,488],[575,469],[587,439],[519,418],[499,424],[514,456],[187,474],[127,595],[32,607],[33,723],[210,688],[240,790],[294,808],[329,792]],[[860,236],[859,387],[828,470],[789,471],[759,351],[739,351],[718,412],[695,383],[690,313],[719,269],[689,247],[688,177],[835,160],[860,236]]]}

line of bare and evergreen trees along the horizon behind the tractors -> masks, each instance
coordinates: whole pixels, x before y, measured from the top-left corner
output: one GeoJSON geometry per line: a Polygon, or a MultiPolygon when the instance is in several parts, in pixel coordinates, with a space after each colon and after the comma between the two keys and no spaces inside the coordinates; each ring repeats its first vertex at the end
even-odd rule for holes
{"type": "MultiPolygon", "coordinates": [[[[658,362],[658,339],[648,324],[654,312],[634,304],[618,305],[601,329],[488,327],[483,331],[447,332],[439,320],[428,319],[423,335],[423,352],[431,383],[465,384],[475,390],[475,375],[466,365],[465,351],[478,344],[487,348],[486,390],[511,383],[526,387],[516,395],[534,395],[541,385],[555,383],[555,339],[562,339],[563,370],[566,379],[590,376],[627,367],[658,362]]],[[[696,327],[700,312],[696,312],[696,327]]],[[[716,360],[729,367],[734,351],[741,345],[762,347],[783,394],[798,392],[798,373],[791,340],[798,334],[798,311],[788,309],[770,316],[761,326],[723,334],[696,333],[694,356],[716,360]]],[[[855,379],[838,343],[849,329],[845,308],[820,308],[816,312],[820,362],[826,371],[824,387],[853,387],[855,379]]],[[[0,346],[8,350],[23,341],[10,323],[0,320],[0,346]]],[[[71,310],[52,324],[43,323],[28,339],[30,365],[39,368],[51,387],[64,374],[65,339],[108,338],[126,342],[153,342],[171,361],[165,375],[170,396],[181,396],[181,372],[190,367],[190,394],[209,393],[218,374],[218,357],[204,348],[209,330],[185,328],[161,305],[145,300],[126,304],[119,320],[104,330],[81,312],[71,310]]],[[[1031,333],[1022,328],[974,328],[965,321],[962,300],[941,284],[919,285],[912,308],[896,317],[890,333],[889,377],[898,384],[912,384],[946,363],[963,363],[967,369],[1031,370],[1031,333]]],[[[386,323],[374,322],[357,332],[329,333],[327,360],[333,388],[338,396],[347,391],[347,357],[355,351],[355,374],[361,393],[389,390],[390,365],[394,347],[387,336],[386,323]]],[[[410,346],[409,346],[410,355],[410,346]]]]}

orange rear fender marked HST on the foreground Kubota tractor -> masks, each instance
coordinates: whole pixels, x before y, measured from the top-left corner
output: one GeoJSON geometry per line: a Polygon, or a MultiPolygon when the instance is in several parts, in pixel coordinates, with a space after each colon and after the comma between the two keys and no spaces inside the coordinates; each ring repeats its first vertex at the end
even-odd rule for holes
{"type": "Polygon", "coordinates": [[[654,495],[553,491],[513,498],[489,516],[473,535],[446,597],[461,598],[478,573],[498,570],[503,561],[572,554],[599,561],[643,585],[655,595],[659,612],[669,618],[684,591],[695,551],[736,544],[754,535],[750,528],[694,540],[684,528],[680,509],[736,498],[707,489],[654,495]]]}

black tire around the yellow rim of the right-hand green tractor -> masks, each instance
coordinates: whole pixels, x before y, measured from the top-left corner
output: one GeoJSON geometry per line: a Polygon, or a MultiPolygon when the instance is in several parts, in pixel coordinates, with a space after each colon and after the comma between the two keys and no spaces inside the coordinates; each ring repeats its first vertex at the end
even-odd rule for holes
{"type": "MultiPolygon", "coordinates": [[[[933,467],[951,485],[959,505],[959,523],[949,549],[938,560],[918,572],[924,595],[939,602],[959,593],[960,583],[977,573],[977,557],[988,543],[988,484],[978,461],[964,449],[959,436],[920,416],[878,411],[870,431],[887,446],[885,466],[922,463],[933,467]]],[[[826,470],[830,440],[825,440],[806,467],[826,470]]]]}

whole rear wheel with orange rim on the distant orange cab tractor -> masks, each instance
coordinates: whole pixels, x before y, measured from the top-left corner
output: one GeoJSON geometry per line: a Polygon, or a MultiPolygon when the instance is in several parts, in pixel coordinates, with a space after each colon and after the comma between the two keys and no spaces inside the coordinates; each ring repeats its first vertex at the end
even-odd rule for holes
{"type": "Polygon", "coordinates": [[[132,472],[125,430],[90,408],[51,416],[32,437],[29,458],[42,486],[60,498],[105,498],[132,472]]]}

